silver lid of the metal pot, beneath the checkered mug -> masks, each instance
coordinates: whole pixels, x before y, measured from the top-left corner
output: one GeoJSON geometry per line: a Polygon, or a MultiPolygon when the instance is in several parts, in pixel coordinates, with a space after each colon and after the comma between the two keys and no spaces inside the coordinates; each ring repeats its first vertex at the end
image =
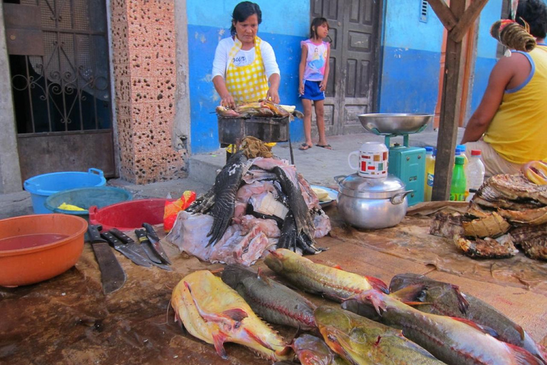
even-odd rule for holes
{"type": "Polygon", "coordinates": [[[405,184],[395,175],[386,178],[363,178],[354,173],[338,180],[340,192],[354,197],[392,197],[405,190],[405,184]]]}

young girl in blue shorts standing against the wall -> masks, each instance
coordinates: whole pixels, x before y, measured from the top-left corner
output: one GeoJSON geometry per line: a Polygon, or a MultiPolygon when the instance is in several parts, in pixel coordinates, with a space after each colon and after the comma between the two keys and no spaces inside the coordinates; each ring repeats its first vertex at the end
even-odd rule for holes
{"type": "Polygon", "coordinates": [[[323,39],[328,36],[328,21],[325,18],[316,18],[311,21],[310,38],[301,42],[302,56],[299,68],[300,85],[298,93],[304,107],[304,133],[306,143],[302,143],[300,150],[308,150],[311,143],[311,101],[316,107],[317,129],[319,132],[319,147],[332,150],[325,137],[325,118],[323,100],[328,80],[328,59],[330,43],[323,39]]]}

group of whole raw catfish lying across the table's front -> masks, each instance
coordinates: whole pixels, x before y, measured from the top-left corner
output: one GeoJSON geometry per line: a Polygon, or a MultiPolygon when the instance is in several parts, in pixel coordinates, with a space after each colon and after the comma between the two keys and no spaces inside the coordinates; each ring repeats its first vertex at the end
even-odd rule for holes
{"type": "Polygon", "coordinates": [[[290,250],[271,252],[265,263],[298,289],[342,308],[316,307],[260,270],[232,264],[222,280],[207,271],[184,277],[172,293],[176,319],[224,358],[222,344],[231,341],[275,364],[547,364],[544,349],[518,324],[452,284],[400,274],[388,294],[380,279],[315,264],[290,250]],[[299,336],[283,339],[257,316],[298,328],[299,336]]]}

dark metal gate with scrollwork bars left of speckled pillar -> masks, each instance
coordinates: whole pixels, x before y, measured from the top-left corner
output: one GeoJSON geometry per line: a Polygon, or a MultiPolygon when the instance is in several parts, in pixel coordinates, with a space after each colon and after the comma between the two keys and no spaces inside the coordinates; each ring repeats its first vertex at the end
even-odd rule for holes
{"type": "Polygon", "coordinates": [[[4,0],[23,179],[115,175],[105,0],[4,0]]]}

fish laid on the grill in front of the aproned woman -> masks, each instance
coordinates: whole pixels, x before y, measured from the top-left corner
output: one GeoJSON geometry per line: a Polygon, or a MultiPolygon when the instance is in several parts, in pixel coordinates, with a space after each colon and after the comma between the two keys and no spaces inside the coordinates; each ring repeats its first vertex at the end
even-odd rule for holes
{"type": "Polygon", "coordinates": [[[302,112],[296,110],[295,106],[281,106],[271,101],[261,100],[251,103],[241,103],[235,108],[217,106],[217,115],[225,118],[249,118],[249,117],[271,117],[271,118],[303,118],[302,112]]]}

